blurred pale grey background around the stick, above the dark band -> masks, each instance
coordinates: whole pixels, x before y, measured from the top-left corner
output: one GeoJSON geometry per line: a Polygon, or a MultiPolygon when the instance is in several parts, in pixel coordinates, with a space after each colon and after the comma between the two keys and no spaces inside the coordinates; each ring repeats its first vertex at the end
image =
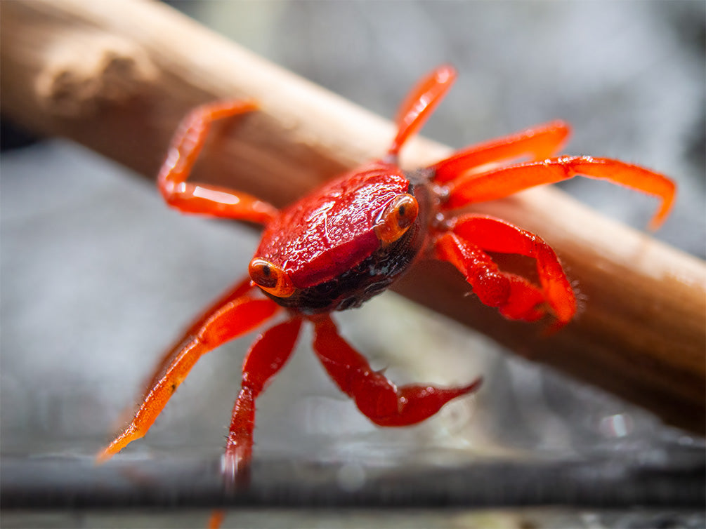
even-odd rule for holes
{"type": "MultiPolygon", "coordinates": [[[[565,119],[574,127],[569,154],[615,157],[674,178],[674,214],[656,236],[705,255],[702,1],[174,6],[383,116],[395,113],[420,75],[453,63],[459,79],[425,135],[462,147],[565,119]]],[[[63,140],[6,150],[0,169],[1,449],[4,456],[90,458],[162,348],[246,273],[257,235],[181,217],[150,183],[63,140]]],[[[640,229],[655,207],[649,197],[587,179],[563,188],[640,229]]],[[[483,375],[486,384],[422,425],[379,429],[323,375],[306,332],[259,401],[256,458],[394,466],[610,452],[639,462],[703,449],[702,439],[506,354],[392,293],[337,321],[373,367],[388,367],[397,382],[454,384],[483,375]]],[[[219,456],[252,339],[203,358],[125,456],[219,456]]],[[[575,526],[625,525],[624,518],[567,516],[575,526]]],[[[90,520],[64,522],[96,523],[90,520]]]]}

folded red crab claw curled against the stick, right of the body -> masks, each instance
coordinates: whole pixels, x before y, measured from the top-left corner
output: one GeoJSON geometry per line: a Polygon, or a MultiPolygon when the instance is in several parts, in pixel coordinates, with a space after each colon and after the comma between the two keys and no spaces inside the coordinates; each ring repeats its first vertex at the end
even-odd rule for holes
{"type": "Polygon", "coordinates": [[[449,231],[435,241],[435,256],[464,274],[486,305],[513,320],[533,321],[547,308],[555,328],[576,312],[576,297],[556,253],[541,238],[506,221],[484,215],[465,215],[449,223],[449,231]],[[539,288],[520,276],[501,272],[485,252],[532,257],[537,262],[539,288]]]}

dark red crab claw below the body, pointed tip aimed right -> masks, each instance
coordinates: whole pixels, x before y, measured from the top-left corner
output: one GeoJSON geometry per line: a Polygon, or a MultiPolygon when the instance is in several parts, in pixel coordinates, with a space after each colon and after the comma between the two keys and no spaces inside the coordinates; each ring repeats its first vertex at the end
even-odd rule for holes
{"type": "Polygon", "coordinates": [[[381,426],[407,426],[431,417],[448,401],[475,391],[481,379],[463,387],[429,384],[397,387],[338,334],[330,316],[314,320],[313,348],[323,367],[358,409],[381,426]]]}

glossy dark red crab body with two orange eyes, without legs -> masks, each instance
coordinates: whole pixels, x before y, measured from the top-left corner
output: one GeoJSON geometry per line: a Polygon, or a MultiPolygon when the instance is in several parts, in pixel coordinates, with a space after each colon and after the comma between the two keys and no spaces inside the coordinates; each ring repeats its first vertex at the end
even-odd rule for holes
{"type": "Polygon", "coordinates": [[[357,307],[388,288],[426,243],[429,188],[373,162],[306,195],[270,221],[249,272],[304,314],[357,307]]]}

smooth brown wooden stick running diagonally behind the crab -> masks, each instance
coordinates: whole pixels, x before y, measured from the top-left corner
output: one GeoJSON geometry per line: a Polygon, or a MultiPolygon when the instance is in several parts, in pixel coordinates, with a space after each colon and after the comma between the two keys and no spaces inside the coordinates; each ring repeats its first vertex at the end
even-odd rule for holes
{"type": "MultiPolygon", "coordinates": [[[[383,154],[393,127],[205,30],[163,4],[135,0],[2,2],[2,112],[64,135],[154,178],[177,121],[198,103],[256,99],[210,151],[199,178],[284,205],[383,154]],[[201,176],[204,175],[204,176],[201,176]]],[[[405,164],[447,147],[417,138],[405,164]]],[[[476,208],[538,233],[556,250],[585,310],[553,336],[508,322],[450,266],[422,262],[396,290],[516,353],[613,391],[703,433],[706,267],[604,219],[553,188],[476,208]]]]}

